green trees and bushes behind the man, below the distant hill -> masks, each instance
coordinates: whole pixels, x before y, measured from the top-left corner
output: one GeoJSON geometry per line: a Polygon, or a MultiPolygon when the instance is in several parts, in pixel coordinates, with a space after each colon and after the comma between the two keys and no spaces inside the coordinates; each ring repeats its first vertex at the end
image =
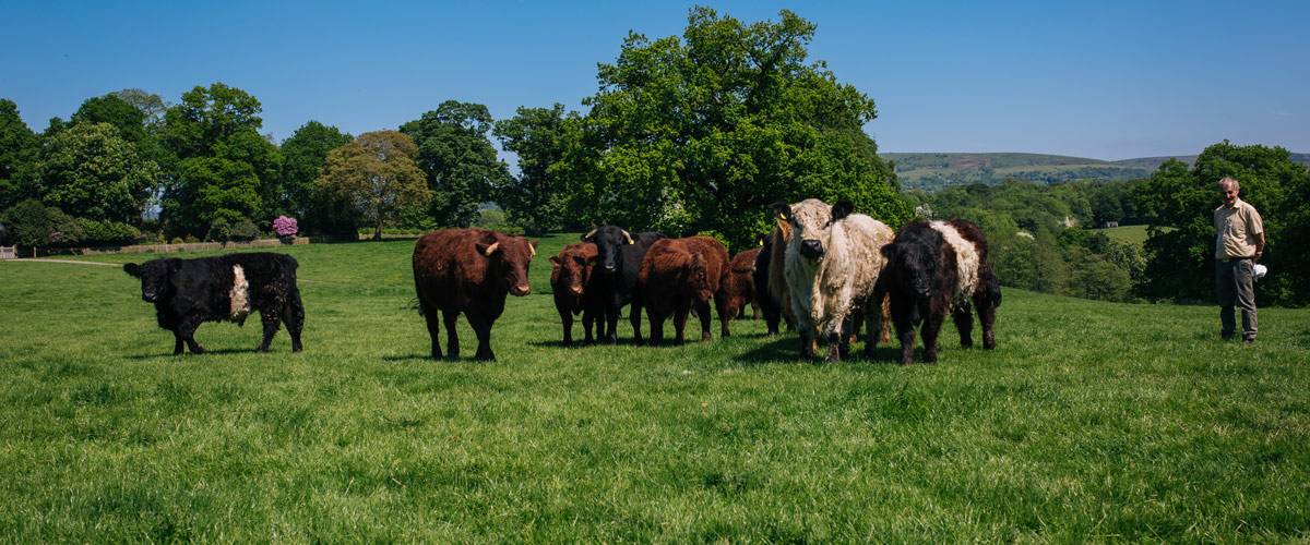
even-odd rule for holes
{"type": "Polygon", "coordinates": [[[921,217],[964,217],[988,234],[1009,286],[1107,301],[1208,303],[1214,298],[1213,210],[1224,176],[1260,210],[1269,240],[1256,282],[1263,303],[1310,303],[1310,169],[1282,148],[1207,148],[1193,166],[1170,159],[1150,178],[1047,186],[1009,180],[937,193],[910,191],[921,217]],[[1089,227],[1146,225],[1141,246],[1089,227]]]}

